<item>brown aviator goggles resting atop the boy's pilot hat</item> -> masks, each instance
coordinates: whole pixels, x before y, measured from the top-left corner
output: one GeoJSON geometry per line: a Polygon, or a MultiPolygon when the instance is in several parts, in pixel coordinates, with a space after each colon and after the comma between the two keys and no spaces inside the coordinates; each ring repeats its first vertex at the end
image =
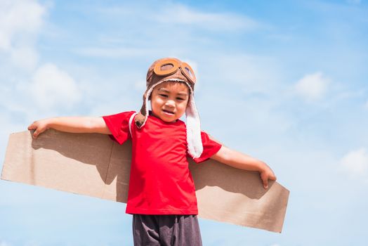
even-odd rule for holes
{"type": "Polygon", "coordinates": [[[195,72],[193,72],[192,67],[188,63],[183,63],[180,60],[176,60],[173,58],[164,58],[159,60],[155,67],[153,67],[153,72],[155,75],[159,77],[165,77],[169,75],[173,75],[180,69],[182,75],[184,75],[192,84],[195,84],[195,72]],[[171,68],[167,68],[170,65],[171,68]]]}

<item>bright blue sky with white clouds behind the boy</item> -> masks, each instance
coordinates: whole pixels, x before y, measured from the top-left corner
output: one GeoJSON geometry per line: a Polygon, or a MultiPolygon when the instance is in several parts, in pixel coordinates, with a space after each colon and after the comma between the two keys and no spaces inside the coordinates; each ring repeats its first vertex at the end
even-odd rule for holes
{"type": "MultiPolygon", "coordinates": [[[[147,68],[174,56],[202,129],[291,192],[281,234],[200,219],[204,245],[366,245],[367,44],[363,0],[0,0],[1,160],[36,119],[138,110],[147,68]]],[[[0,181],[0,246],[131,245],[124,211],[0,181]]]]}

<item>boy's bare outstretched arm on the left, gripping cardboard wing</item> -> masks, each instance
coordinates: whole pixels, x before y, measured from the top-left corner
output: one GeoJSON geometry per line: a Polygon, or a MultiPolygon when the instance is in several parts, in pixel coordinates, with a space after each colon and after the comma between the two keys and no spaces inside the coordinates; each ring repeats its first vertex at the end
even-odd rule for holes
{"type": "Polygon", "coordinates": [[[39,134],[50,128],[72,133],[111,134],[103,117],[54,117],[39,119],[30,124],[28,130],[35,130],[33,137],[37,138],[39,134]]]}

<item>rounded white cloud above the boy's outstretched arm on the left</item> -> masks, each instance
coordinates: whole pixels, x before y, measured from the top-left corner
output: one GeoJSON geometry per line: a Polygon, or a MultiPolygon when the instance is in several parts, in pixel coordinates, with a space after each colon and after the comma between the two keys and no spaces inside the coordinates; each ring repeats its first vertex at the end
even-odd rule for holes
{"type": "Polygon", "coordinates": [[[81,91],[74,79],[55,65],[39,67],[32,77],[32,97],[40,108],[71,108],[81,100],[81,91]]]}

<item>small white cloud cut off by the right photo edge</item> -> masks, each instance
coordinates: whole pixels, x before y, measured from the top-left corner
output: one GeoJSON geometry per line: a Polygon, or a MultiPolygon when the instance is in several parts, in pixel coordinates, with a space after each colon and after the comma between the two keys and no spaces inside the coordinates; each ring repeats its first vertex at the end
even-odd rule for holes
{"type": "Polygon", "coordinates": [[[341,167],[353,177],[362,177],[368,171],[368,153],[365,148],[352,150],[341,158],[341,167]]]}

